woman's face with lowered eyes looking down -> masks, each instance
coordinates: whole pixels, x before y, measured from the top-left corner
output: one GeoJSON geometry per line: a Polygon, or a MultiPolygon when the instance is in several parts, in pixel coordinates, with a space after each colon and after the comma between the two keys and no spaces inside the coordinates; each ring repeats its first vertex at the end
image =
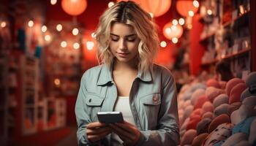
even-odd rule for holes
{"type": "Polygon", "coordinates": [[[113,23],[110,28],[110,50],[117,61],[134,63],[137,61],[140,39],[134,28],[124,23],[113,23]]]}

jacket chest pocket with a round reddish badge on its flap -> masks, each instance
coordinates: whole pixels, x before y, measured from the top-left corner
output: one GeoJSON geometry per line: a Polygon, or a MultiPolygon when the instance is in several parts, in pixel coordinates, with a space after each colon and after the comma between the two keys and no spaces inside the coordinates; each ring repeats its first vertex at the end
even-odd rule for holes
{"type": "Polygon", "coordinates": [[[157,119],[161,104],[161,94],[153,93],[140,99],[140,116],[142,115],[145,130],[154,130],[157,127],[157,119]]]}

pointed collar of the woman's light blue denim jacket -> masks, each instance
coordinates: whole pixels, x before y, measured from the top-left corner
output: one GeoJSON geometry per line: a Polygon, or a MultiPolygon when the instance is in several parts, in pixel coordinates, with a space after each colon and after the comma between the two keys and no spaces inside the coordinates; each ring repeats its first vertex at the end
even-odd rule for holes
{"type": "MultiPolygon", "coordinates": [[[[113,83],[112,71],[113,71],[112,65],[110,67],[108,67],[107,65],[103,64],[102,68],[99,72],[99,78],[97,81],[97,85],[106,85],[106,84],[108,84],[108,82],[113,83]]],[[[136,78],[139,78],[143,82],[151,82],[152,81],[151,72],[145,72],[144,74],[142,74],[142,72],[140,72],[140,70],[139,70],[136,78]]]]}

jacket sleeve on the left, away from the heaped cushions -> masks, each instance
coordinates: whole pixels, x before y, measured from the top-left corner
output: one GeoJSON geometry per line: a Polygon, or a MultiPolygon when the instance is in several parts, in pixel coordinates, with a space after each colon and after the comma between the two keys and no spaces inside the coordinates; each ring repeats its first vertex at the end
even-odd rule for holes
{"type": "Polygon", "coordinates": [[[80,82],[80,89],[78,91],[78,98],[75,103],[75,116],[78,124],[78,145],[97,145],[96,143],[91,143],[87,139],[86,135],[86,126],[91,123],[91,118],[89,116],[88,108],[86,108],[86,73],[83,74],[83,77],[80,82]]]}

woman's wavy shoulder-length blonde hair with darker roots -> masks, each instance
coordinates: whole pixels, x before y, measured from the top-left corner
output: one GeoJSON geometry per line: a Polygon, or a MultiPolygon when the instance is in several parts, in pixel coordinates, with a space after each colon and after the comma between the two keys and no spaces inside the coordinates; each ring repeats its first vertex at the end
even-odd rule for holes
{"type": "Polygon", "coordinates": [[[159,50],[157,27],[148,12],[145,12],[133,1],[120,1],[108,8],[99,18],[99,25],[95,33],[99,64],[110,66],[114,55],[110,51],[110,27],[113,23],[124,23],[132,26],[135,34],[140,38],[138,45],[138,69],[142,73],[152,71],[154,58],[159,50]]]}

